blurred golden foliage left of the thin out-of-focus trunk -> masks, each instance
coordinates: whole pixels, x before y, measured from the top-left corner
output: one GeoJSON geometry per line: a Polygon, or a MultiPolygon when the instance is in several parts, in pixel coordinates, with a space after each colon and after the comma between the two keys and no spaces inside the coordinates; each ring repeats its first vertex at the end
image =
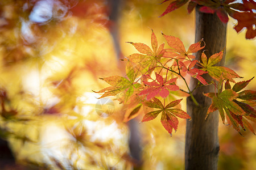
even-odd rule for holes
{"type": "Polygon", "coordinates": [[[0,3],[1,137],[16,161],[31,168],[129,169],[122,116],[103,118],[94,110],[92,90],[105,86],[98,77],[119,74],[105,2],[0,3]]]}

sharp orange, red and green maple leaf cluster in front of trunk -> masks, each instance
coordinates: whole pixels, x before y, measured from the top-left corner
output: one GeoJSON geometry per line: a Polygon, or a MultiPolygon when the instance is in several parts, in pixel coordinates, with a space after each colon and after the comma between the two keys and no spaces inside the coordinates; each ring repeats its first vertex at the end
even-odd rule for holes
{"type": "Polygon", "coordinates": [[[256,105],[255,91],[239,92],[247,86],[251,79],[238,82],[231,88],[229,82],[235,82],[234,78],[241,78],[241,76],[227,67],[215,66],[221,61],[223,52],[213,54],[209,59],[202,53],[202,62],[200,62],[193,59],[195,56],[191,53],[204,48],[203,40],[192,44],[186,50],[179,38],[163,33],[162,35],[170,48],[164,49],[164,44],[158,47],[158,41],[153,31],[151,34],[152,49],[140,42],[129,42],[140,53],[131,54],[123,59],[127,62],[126,76],[115,75],[100,78],[110,84],[110,87],[97,92],[104,93],[100,98],[116,96],[120,103],[125,105],[125,121],[129,121],[140,113],[144,114],[142,122],[150,121],[162,113],[162,125],[171,134],[172,129],[177,130],[179,123],[177,117],[191,118],[179,107],[182,99],[176,99],[173,94],[176,96],[182,96],[181,93],[190,95],[195,104],[199,105],[192,94],[195,89],[189,89],[187,75],[199,80],[197,87],[210,84],[213,86],[216,84],[214,81],[217,81],[219,84],[217,92],[204,94],[212,98],[207,116],[209,113],[219,110],[222,121],[225,123],[225,111],[226,120],[228,124],[233,125],[234,129],[240,132],[239,125],[242,129],[245,129],[246,126],[254,133],[248,120],[256,122],[256,112],[253,108],[256,105]],[[195,65],[198,65],[200,69],[194,68],[195,65]],[[214,81],[207,82],[201,76],[203,74],[209,74],[214,81]],[[183,80],[187,90],[177,86],[177,79],[183,80]],[[223,81],[226,82],[225,91],[222,91],[223,81]]]}

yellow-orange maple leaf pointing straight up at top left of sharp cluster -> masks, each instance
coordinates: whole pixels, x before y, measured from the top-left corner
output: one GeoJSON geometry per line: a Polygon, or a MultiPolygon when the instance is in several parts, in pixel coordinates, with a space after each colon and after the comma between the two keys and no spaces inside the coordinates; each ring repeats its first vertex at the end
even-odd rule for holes
{"type": "MultiPolygon", "coordinates": [[[[132,44],[138,52],[142,54],[131,54],[130,56],[123,59],[123,61],[130,61],[134,63],[139,63],[139,65],[144,70],[150,70],[157,65],[160,61],[160,57],[163,56],[164,53],[164,44],[161,44],[158,48],[158,41],[156,40],[156,36],[154,31],[151,33],[151,46],[152,50],[146,44],[141,42],[128,42],[132,44]]],[[[152,70],[151,70],[152,71],[152,70]]]]}

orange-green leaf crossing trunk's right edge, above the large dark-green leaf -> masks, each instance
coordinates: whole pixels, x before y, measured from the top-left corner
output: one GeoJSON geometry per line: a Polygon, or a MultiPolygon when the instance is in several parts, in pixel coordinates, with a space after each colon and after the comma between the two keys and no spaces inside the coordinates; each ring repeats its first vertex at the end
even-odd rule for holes
{"type": "Polygon", "coordinates": [[[216,63],[220,62],[223,56],[223,52],[213,54],[210,56],[207,62],[207,56],[202,53],[201,59],[202,63],[201,66],[203,67],[203,71],[208,71],[208,74],[216,80],[219,80],[220,77],[229,80],[230,82],[234,82],[233,78],[242,78],[236,72],[229,69],[228,67],[224,66],[214,66],[216,63]]]}

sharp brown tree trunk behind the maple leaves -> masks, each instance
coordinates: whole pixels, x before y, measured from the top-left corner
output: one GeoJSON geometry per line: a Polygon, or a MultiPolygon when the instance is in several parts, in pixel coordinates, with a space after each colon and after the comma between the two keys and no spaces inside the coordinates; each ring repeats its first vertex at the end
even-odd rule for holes
{"type": "MultiPolygon", "coordinates": [[[[209,58],[218,53],[226,46],[226,24],[218,19],[216,14],[204,14],[196,7],[196,37],[195,42],[204,39],[206,44],[203,50],[209,58]]],[[[196,59],[201,61],[202,51],[196,53],[196,59]]],[[[222,61],[218,65],[224,65],[225,51],[222,61]]],[[[204,78],[210,82],[212,78],[208,75],[204,78]]],[[[198,80],[192,78],[189,88],[193,90],[198,80]]],[[[214,86],[201,86],[193,95],[200,104],[193,103],[191,97],[187,98],[187,113],[191,120],[187,120],[185,137],[185,169],[217,169],[218,151],[218,112],[210,113],[207,120],[205,115],[211,104],[211,99],[203,93],[214,92],[214,86]]]]}

